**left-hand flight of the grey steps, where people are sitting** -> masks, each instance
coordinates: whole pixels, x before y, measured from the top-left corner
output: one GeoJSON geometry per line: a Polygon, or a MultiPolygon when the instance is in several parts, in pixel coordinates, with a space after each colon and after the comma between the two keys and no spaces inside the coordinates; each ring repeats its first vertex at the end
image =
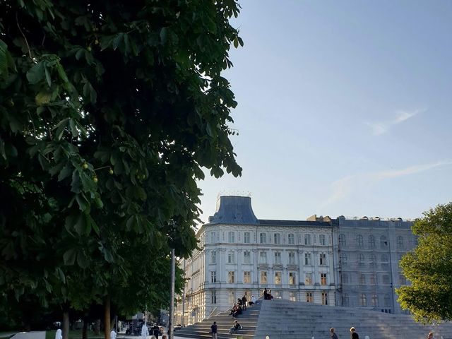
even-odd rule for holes
{"type": "MultiPolygon", "coordinates": [[[[244,339],[251,339],[254,337],[256,325],[258,321],[259,311],[262,302],[246,307],[246,310],[237,316],[237,321],[242,325],[242,330],[239,330],[238,335],[242,335],[244,339]]],[[[235,339],[237,334],[229,334],[229,329],[234,325],[234,319],[229,315],[229,311],[221,312],[216,316],[211,316],[209,319],[204,319],[199,323],[194,323],[191,326],[180,328],[174,332],[177,337],[187,337],[195,339],[210,339],[210,326],[213,321],[217,322],[218,339],[235,339]]]]}

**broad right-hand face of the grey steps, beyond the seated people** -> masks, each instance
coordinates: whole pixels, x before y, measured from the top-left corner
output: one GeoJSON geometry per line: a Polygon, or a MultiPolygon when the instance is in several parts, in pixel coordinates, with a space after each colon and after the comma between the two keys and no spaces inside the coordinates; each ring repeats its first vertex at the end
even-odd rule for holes
{"type": "Polygon", "coordinates": [[[335,328],[339,339],[350,338],[350,327],[359,338],[425,339],[429,331],[436,339],[452,338],[452,323],[423,326],[407,314],[386,314],[369,309],[330,307],[283,299],[264,300],[259,314],[255,338],[328,339],[335,328]]]}

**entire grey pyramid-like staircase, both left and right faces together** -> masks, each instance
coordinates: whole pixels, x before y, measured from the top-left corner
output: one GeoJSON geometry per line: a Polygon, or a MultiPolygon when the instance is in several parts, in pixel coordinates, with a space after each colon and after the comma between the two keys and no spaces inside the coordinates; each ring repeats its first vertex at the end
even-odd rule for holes
{"type": "MultiPolygon", "coordinates": [[[[234,319],[222,312],[210,319],[182,328],[176,336],[208,339],[210,325],[218,324],[218,339],[237,338],[228,334],[234,319]]],[[[359,338],[365,339],[425,339],[433,331],[436,339],[452,339],[452,323],[439,326],[424,326],[415,323],[406,314],[386,314],[370,309],[353,307],[330,307],[307,302],[289,300],[260,300],[248,307],[238,319],[243,326],[239,331],[244,339],[328,339],[329,329],[335,328],[339,339],[350,338],[350,327],[354,326],[359,338]]]]}

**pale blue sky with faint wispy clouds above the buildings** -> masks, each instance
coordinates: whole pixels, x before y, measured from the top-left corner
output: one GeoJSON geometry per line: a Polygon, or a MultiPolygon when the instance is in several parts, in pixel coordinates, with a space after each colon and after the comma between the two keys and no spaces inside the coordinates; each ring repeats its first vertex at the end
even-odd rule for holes
{"type": "Polygon", "coordinates": [[[218,194],[278,220],[452,201],[452,1],[239,2],[224,76],[243,173],[198,183],[203,222],[218,194]]]}

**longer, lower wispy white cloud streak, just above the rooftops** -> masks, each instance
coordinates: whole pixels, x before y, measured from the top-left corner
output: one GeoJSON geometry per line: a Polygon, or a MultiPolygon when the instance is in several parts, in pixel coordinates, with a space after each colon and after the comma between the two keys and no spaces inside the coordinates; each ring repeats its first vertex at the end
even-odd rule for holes
{"type": "Polygon", "coordinates": [[[442,167],[447,165],[452,165],[452,160],[442,160],[429,164],[413,165],[403,169],[389,169],[381,172],[360,173],[343,177],[331,184],[331,196],[326,199],[323,207],[331,205],[331,203],[335,203],[336,201],[340,201],[341,199],[352,194],[352,192],[357,189],[373,186],[374,184],[382,180],[425,172],[435,167],[442,167]]]}

